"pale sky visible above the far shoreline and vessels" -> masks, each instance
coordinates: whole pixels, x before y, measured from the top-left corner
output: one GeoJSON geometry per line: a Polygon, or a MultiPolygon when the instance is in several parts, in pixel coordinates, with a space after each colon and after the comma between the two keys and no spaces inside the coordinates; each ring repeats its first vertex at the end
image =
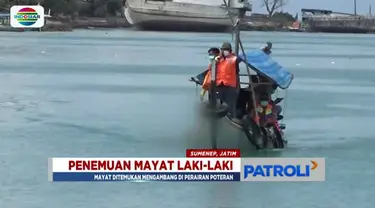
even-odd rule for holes
{"type": "MultiPolygon", "coordinates": [[[[221,5],[223,0],[173,0],[176,2],[200,3],[208,5],[221,5]]],[[[228,0],[227,0],[228,1],[228,0]]],[[[266,13],[261,8],[263,0],[250,0],[253,4],[254,13],[266,13]]],[[[334,12],[354,13],[354,0],[287,0],[288,4],[284,6],[284,12],[295,15],[300,13],[301,8],[306,9],[328,9],[334,12]]],[[[368,14],[369,5],[372,2],[372,14],[375,14],[375,0],[357,0],[357,14],[368,14]]]]}

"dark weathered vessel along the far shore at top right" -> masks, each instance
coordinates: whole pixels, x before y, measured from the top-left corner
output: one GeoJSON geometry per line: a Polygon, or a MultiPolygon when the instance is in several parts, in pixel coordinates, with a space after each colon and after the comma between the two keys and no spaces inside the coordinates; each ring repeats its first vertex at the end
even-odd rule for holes
{"type": "Polygon", "coordinates": [[[302,25],[309,32],[368,33],[375,28],[375,17],[331,10],[302,9],[302,25]]]}

